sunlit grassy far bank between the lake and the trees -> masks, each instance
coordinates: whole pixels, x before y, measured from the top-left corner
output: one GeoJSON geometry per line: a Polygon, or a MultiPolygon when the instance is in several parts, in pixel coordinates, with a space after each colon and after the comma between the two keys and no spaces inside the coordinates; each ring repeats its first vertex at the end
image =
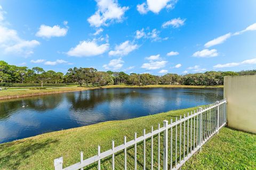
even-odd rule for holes
{"type": "MultiPolygon", "coordinates": [[[[25,87],[26,88],[26,87],[25,87]]],[[[3,90],[1,92],[5,92],[10,96],[0,96],[0,100],[9,100],[9,99],[17,99],[17,98],[27,98],[27,97],[34,97],[34,96],[42,96],[42,95],[51,95],[51,94],[60,94],[64,92],[76,92],[76,91],[85,91],[85,90],[94,90],[94,89],[109,89],[109,88],[223,88],[222,85],[220,86],[188,86],[188,85],[147,85],[147,86],[132,86],[132,85],[111,85],[111,86],[101,86],[101,87],[66,87],[65,88],[55,88],[55,89],[43,89],[43,90],[17,90],[17,94],[15,95],[14,90],[3,90]],[[19,92],[24,92],[24,94],[19,94],[19,92]],[[14,93],[14,94],[12,94],[14,93]]]]}

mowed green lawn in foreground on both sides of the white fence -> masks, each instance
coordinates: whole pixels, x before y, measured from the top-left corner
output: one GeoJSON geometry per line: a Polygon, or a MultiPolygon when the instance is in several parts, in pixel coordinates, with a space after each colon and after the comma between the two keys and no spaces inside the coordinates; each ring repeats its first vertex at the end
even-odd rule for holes
{"type": "MultiPolygon", "coordinates": [[[[45,133],[0,145],[0,169],[53,169],[53,160],[63,156],[64,165],[75,164],[80,161],[79,152],[84,152],[84,158],[97,155],[97,147],[101,151],[111,149],[111,140],[115,145],[123,143],[124,135],[127,141],[142,135],[146,128],[149,133],[151,126],[157,128],[158,123],[163,126],[163,120],[170,121],[179,115],[193,111],[195,108],[181,109],[124,121],[110,121],[83,126],[81,128],[45,133]]],[[[179,131],[179,129],[178,129],[179,131]]],[[[161,134],[161,143],[163,143],[161,134]]],[[[170,136],[169,136],[170,137],[170,136]]],[[[150,142],[146,142],[146,164],[150,169],[150,142]]],[[[178,141],[179,146],[179,141],[178,141]]],[[[143,166],[143,145],[138,145],[138,169],[143,166]]],[[[161,146],[162,148],[162,146],[161,146]]],[[[162,152],[161,149],[161,165],[162,152]]],[[[196,154],[182,169],[255,169],[256,168],[256,135],[241,131],[222,128],[218,135],[203,146],[202,152],[196,154]]],[[[123,152],[116,154],[116,169],[123,169],[123,152]]],[[[127,150],[127,166],[133,169],[134,149],[127,150]]],[[[178,149],[179,155],[179,149],[178,149]]],[[[170,158],[170,155],[169,155],[170,158]]],[[[178,157],[179,159],[179,157],[178,157]]],[[[157,167],[157,135],[154,137],[154,169],[157,167]]],[[[111,157],[101,162],[102,169],[110,169],[111,157]]],[[[85,169],[97,169],[93,164],[85,169]]]]}

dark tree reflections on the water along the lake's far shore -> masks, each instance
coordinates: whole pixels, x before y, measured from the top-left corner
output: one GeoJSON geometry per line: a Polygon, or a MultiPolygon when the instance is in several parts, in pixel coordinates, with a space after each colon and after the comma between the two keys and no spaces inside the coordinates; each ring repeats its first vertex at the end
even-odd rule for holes
{"type": "MultiPolygon", "coordinates": [[[[7,118],[23,109],[38,112],[47,111],[58,107],[63,102],[70,104],[70,110],[73,111],[93,110],[93,108],[102,103],[111,103],[112,101],[118,101],[118,103],[123,104],[127,98],[131,100],[140,98],[145,100],[146,103],[151,101],[153,102],[152,106],[155,106],[156,99],[160,100],[161,97],[165,96],[170,100],[170,97],[177,98],[178,94],[179,96],[186,95],[187,99],[204,100],[207,102],[223,98],[222,89],[95,89],[2,102],[0,103],[0,119],[7,118]],[[22,106],[26,107],[22,108],[22,106]]],[[[182,99],[183,97],[179,98],[182,99]]],[[[164,102],[162,101],[162,103],[164,102]]]]}

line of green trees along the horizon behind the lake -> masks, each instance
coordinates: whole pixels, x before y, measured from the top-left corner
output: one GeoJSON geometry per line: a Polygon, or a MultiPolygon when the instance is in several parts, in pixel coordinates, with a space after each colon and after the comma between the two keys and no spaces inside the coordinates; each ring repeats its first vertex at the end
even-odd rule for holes
{"type": "Polygon", "coordinates": [[[76,83],[92,84],[106,86],[113,84],[132,84],[132,85],[150,85],[150,84],[182,84],[182,85],[203,85],[213,86],[222,85],[225,76],[228,75],[255,75],[256,70],[247,71],[207,71],[205,73],[189,73],[178,75],[167,73],[162,76],[151,75],[148,73],[126,74],[124,72],[98,71],[94,68],[77,68],[68,69],[64,75],[61,72],[53,70],[45,71],[41,67],[33,67],[29,69],[26,66],[9,65],[4,61],[0,61],[0,82],[1,83],[76,83]]]}

